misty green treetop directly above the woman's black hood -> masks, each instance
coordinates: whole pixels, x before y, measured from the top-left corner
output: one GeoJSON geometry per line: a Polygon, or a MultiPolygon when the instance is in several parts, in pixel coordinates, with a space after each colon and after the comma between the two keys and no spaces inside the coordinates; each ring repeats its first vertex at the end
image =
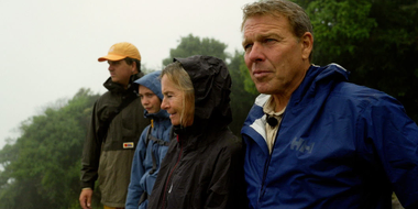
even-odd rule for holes
{"type": "Polygon", "coordinates": [[[188,36],[180,37],[176,48],[169,50],[169,57],[163,61],[163,66],[173,63],[173,58],[175,57],[188,57],[193,55],[208,55],[226,61],[229,57],[224,52],[227,47],[227,44],[215,38],[200,38],[189,34],[188,36]]]}

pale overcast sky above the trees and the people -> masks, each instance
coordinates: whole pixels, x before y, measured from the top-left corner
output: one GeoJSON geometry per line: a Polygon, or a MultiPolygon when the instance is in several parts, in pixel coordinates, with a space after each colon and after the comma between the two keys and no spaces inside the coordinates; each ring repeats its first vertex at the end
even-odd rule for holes
{"type": "Polygon", "coordinates": [[[97,58],[131,42],[160,69],[183,36],[242,50],[241,8],[255,0],[0,0],[0,148],[20,123],[81,87],[105,92],[97,58]]]}

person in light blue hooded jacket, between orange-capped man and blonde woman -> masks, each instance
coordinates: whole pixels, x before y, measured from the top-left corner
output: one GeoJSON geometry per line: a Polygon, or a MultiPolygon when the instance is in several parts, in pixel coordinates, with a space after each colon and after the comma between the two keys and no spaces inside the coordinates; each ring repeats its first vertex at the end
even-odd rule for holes
{"type": "Polygon", "coordinates": [[[151,124],[144,129],[138,142],[132,162],[131,183],[128,187],[127,209],[144,209],[151,194],[169,142],[172,123],[167,111],[161,109],[163,95],[158,76],[153,72],[135,80],[139,85],[144,117],[151,124]]]}

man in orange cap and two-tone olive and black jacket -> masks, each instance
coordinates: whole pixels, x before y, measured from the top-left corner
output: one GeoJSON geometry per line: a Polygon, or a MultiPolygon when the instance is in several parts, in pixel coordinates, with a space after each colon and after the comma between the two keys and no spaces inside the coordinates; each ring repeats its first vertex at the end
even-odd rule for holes
{"type": "Polygon", "coordinates": [[[131,43],[112,45],[99,62],[109,64],[108,91],[95,103],[82,152],[80,206],[91,208],[95,182],[99,180],[105,209],[123,208],[132,158],[142,130],[150,124],[138,99],[134,80],[141,78],[141,54],[131,43]]]}

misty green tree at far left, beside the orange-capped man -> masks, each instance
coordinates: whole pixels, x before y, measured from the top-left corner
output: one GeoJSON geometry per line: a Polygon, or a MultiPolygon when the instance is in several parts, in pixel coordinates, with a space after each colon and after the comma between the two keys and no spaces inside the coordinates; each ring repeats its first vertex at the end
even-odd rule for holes
{"type": "Polygon", "coordinates": [[[1,208],[64,209],[78,201],[82,144],[98,97],[80,89],[63,107],[22,123],[22,136],[0,151],[1,208]]]}

